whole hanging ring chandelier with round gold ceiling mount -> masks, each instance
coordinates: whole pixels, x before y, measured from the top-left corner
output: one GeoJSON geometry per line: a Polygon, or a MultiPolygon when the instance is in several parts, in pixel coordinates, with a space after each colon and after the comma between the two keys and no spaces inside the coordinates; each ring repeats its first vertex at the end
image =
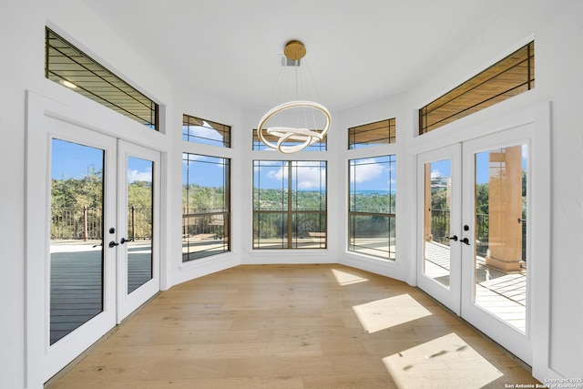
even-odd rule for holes
{"type": "MultiPolygon", "coordinates": [[[[294,77],[285,78],[292,87],[283,86],[285,80],[278,84],[280,89],[285,89],[282,90],[284,100],[289,93],[287,89],[295,89],[294,99],[272,107],[263,115],[257,127],[257,135],[267,147],[291,154],[326,138],[332,125],[332,116],[322,104],[309,99],[308,95],[311,93],[309,79],[301,66],[301,60],[306,55],[306,48],[302,42],[297,40],[288,42],[283,54],[287,60],[282,61],[282,67],[292,67],[288,70],[293,70],[295,74],[294,77]],[[292,81],[290,78],[293,78],[292,81]],[[293,112],[288,112],[292,115],[285,116],[284,111],[293,112]],[[277,143],[272,143],[268,138],[277,138],[277,143]]],[[[315,91],[315,85],[313,90],[315,91]]]]}

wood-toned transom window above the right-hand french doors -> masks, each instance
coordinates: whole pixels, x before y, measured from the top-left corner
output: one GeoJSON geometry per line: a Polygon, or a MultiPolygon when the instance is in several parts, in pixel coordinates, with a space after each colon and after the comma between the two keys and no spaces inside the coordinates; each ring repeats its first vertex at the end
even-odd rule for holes
{"type": "Polygon", "coordinates": [[[419,134],[445,126],[535,87],[535,44],[530,42],[419,110],[419,134]]]}

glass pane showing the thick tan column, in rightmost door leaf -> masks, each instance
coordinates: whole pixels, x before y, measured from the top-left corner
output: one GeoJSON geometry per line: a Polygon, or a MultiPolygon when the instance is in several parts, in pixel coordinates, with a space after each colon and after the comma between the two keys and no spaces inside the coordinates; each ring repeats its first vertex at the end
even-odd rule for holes
{"type": "Polygon", "coordinates": [[[527,145],[476,154],[476,304],[526,332],[527,145]]]}

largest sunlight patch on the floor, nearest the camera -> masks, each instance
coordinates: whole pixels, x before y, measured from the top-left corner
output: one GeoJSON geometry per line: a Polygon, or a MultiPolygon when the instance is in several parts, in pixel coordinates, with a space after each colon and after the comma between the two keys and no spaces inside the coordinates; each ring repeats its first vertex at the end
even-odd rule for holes
{"type": "Polygon", "coordinates": [[[400,389],[483,387],[503,374],[455,333],[383,358],[400,389]]]}

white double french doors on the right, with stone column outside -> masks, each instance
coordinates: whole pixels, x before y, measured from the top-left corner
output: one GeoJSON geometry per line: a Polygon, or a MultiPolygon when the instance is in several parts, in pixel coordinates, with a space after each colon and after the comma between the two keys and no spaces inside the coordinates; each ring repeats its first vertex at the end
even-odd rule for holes
{"type": "Polygon", "coordinates": [[[420,288],[528,364],[531,128],[419,154],[420,288]]]}

